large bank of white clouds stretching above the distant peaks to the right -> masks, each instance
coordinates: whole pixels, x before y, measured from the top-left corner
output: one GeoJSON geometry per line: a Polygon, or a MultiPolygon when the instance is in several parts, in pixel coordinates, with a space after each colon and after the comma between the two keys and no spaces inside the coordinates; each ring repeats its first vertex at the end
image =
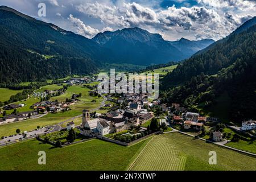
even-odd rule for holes
{"type": "MultiPolygon", "coordinates": [[[[184,2],[184,0],[176,0],[184,2]]],[[[109,27],[141,27],[164,34],[167,39],[187,35],[191,39],[213,38],[230,34],[245,20],[256,15],[255,1],[197,0],[192,7],[153,9],[138,3],[82,3],[76,6],[81,13],[101,20],[109,27]]]]}

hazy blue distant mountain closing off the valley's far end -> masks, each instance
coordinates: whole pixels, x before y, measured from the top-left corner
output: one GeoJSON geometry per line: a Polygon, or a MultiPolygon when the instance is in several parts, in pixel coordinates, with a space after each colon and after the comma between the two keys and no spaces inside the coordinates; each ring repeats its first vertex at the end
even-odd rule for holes
{"type": "Polygon", "coordinates": [[[151,34],[138,27],[114,32],[106,31],[97,34],[92,40],[115,52],[119,63],[141,65],[181,61],[214,42],[214,40],[187,39],[169,42],[159,34],[151,34]]]}

